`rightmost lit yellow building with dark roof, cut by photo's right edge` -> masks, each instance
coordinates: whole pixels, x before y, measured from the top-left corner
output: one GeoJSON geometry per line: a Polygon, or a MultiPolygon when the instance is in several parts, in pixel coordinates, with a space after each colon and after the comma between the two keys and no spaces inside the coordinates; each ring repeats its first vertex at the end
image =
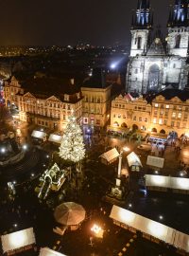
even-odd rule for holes
{"type": "Polygon", "coordinates": [[[167,135],[172,131],[179,136],[188,134],[188,115],[189,91],[164,90],[152,101],[149,130],[167,135]]]}

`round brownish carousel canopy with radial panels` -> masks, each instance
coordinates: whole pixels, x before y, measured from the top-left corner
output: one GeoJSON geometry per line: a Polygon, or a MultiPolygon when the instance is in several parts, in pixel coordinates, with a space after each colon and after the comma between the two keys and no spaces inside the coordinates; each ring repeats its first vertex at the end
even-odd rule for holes
{"type": "Polygon", "coordinates": [[[57,222],[65,226],[75,226],[85,219],[85,210],[74,202],[63,203],[54,212],[57,222]]]}

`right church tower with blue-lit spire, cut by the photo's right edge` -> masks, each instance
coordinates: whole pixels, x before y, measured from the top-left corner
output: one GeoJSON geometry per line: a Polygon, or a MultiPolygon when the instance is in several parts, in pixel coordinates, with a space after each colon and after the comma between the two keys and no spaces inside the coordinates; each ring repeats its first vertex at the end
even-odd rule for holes
{"type": "Polygon", "coordinates": [[[169,55],[187,57],[189,44],[189,1],[175,0],[167,23],[167,51],[169,55]]]}

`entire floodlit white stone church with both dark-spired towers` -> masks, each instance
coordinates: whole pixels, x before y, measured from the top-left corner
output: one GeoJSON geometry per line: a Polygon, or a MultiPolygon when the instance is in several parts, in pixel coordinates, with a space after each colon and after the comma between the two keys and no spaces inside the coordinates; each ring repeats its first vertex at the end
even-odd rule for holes
{"type": "Polygon", "coordinates": [[[132,17],[127,91],[146,94],[168,85],[184,89],[188,83],[189,1],[175,0],[167,22],[167,36],[153,32],[149,1],[139,0],[132,17]]]}

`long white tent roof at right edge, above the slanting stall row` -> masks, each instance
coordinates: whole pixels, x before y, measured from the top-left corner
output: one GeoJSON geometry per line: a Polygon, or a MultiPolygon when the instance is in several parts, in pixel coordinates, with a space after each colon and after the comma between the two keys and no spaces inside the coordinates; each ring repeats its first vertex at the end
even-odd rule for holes
{"type": "Polygon", "coordinates": [[[189,191],[189,178],[146,174],[146,187],[162,187],[189,191]]]}

